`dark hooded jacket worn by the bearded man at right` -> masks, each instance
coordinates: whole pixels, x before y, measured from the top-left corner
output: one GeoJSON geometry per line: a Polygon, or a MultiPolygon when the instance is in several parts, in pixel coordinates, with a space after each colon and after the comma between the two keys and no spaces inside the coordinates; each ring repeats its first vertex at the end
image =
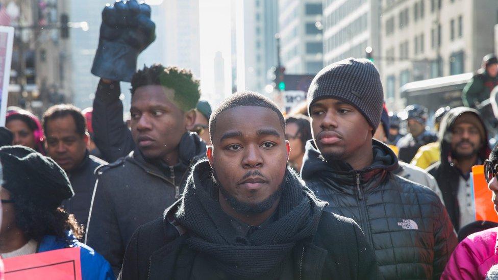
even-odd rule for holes
{"type": "Polygon", "coordinates": [[[455,164],[452,161],[451,139],[455,121],[460,115],[464,113],[475,114],[479,118],[482,128],[484,129],[484,137],[483,139],[481,139],[482,147],[479,150],[478,162],[476,162],[476,164],[482,164],[488,158],[491,150],[488,145],[488,133],[486,130],[486,126],[484,125],[484,122],[482,120],[481,114],[475,109],[470,109],[467,107],[457,107],[447,112],[444,118],[441,120],[439,128],[439,146],[441,147],[441,160],[427,169],[437,181],[439,189],[441,190],[441,193],[443,195],[444,205],[446,206],[453,226],[457,231],[460,229],[460,227],[465,225],[460,224],[461,206],[457,199],[457,195],[459,192],[460,178],[466,174],[462,174],[460,170],[455,167],[455,164]]]}

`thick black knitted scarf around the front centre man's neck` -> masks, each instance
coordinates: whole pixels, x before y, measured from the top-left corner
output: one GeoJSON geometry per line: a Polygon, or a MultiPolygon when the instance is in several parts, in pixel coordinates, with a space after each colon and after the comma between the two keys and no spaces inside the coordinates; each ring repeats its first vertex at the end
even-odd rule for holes
{"type": "Polygon", "coordinates": [[[275,271],[296,242],[312,237],[327,206],[290,168],[282,188],[276,221],[242,237],[221,210],[218,186],[205,160],[193,168],[175,216],[188,229],[191,249],[212,257],[220,269],[234,277],[254,278],[275,271]]]}

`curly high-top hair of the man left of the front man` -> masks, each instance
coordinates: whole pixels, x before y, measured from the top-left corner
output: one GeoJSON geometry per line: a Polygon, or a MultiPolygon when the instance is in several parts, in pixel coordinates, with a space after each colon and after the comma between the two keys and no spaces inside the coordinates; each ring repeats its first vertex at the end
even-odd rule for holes
{"type": "Polygon", "coordinates": [[[151,67],[143,66],[132,77],[132,96],[139,87],[149,85],[159,85],[175,91],[175,103],[186,112],[195,109],[201,91],[200,82],[195,79],[193,73],[188,69],[177,66],[164,67],[161,64],[154,64],[151,67]]]}

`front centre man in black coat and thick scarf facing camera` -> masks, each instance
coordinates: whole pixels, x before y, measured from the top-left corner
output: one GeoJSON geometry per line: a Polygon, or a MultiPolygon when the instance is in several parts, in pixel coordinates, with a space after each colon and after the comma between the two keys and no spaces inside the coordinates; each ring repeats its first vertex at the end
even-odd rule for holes
{"type": "Polygon", "coordinates": [[[138,228],[121,279],[375,279],[351,219],[323,212],[288,166],[276,105],[237,93],[212,114],[213,146],[182,199],[138,228]]]}

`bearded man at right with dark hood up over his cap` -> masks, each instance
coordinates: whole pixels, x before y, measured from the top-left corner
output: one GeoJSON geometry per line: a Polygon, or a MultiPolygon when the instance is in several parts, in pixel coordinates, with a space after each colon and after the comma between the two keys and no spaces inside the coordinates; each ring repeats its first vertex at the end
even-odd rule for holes
{"type": "Polygon", "coordinates": [[[488,133],[478,111],[468,107],[450,110],[439,129],[441,160],[428,168],[441,189],[455,230],[475,221],[470,171],[483,164],[490,149],[488,133]]]}

